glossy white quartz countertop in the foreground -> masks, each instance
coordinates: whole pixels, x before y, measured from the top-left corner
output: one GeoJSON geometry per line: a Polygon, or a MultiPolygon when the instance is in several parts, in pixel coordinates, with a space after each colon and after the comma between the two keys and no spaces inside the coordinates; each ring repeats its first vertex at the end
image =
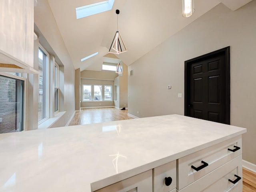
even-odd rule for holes
{"type": "Polygon", "coordinates": [[[246,129],[180,115],[0,134],[0,192],[91,192],[246,129]]]}

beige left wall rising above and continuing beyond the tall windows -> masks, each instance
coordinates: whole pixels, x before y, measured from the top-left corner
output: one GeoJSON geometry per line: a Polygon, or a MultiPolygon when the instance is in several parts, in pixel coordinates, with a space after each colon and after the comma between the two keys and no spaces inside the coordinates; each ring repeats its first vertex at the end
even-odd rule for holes
{"type": "Polygon", "coordinates": [[[35,30],[39,30],[36,32],[40,43],[60,65],[60,110],[66,113],[60,118],[61,123],[56,124],[65,126],[75,110],[75,69],[47,0],[38,0],[34,8],[34,23],[35,30]]]}

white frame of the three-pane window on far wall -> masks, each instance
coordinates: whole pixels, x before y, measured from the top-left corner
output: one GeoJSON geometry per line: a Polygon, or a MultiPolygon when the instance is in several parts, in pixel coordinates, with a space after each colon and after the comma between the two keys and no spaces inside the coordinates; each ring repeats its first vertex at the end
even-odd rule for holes
{"type": "Polygon", "coordinates": [[[112,85],[100,85],[100,84],[82,84],[82,90],[81,90],[81,102],[113,102],[113,86],[112,85]],[[84,86],[91,86],[91,99],[92,100],[84,100],[84,86]],[[102,94],[101,99],[102,100],[94,100],[94,86],[102,86],[102,94]],[[111,100],[105,100],[105,86],[111,87],[111,100]]]}

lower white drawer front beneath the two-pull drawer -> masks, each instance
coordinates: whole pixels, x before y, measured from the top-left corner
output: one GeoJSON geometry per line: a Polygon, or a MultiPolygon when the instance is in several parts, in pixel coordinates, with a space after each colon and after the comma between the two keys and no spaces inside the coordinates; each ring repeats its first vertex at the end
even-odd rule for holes
{"type": "Polygon", "coordinates": [[[242,192],[242,183],[242,155],[239,155],[179,192],[242,192]],[[235,184],[229,181],[237,179],[234,175],[241,177],[235,184]]]}

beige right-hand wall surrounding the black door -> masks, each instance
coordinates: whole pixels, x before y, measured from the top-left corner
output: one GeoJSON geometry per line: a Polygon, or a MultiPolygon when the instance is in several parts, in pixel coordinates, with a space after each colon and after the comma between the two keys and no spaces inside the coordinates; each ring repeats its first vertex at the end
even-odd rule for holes
{"type": "Polygon", "coordinates": [[[128,67],[128,113],[183,115],[184,61],[230,46],[230,122],[247,128],[243,159],[256,164],[255,13],[256,0],[235,12],[219,4],[135,61],[128,67]]]}

